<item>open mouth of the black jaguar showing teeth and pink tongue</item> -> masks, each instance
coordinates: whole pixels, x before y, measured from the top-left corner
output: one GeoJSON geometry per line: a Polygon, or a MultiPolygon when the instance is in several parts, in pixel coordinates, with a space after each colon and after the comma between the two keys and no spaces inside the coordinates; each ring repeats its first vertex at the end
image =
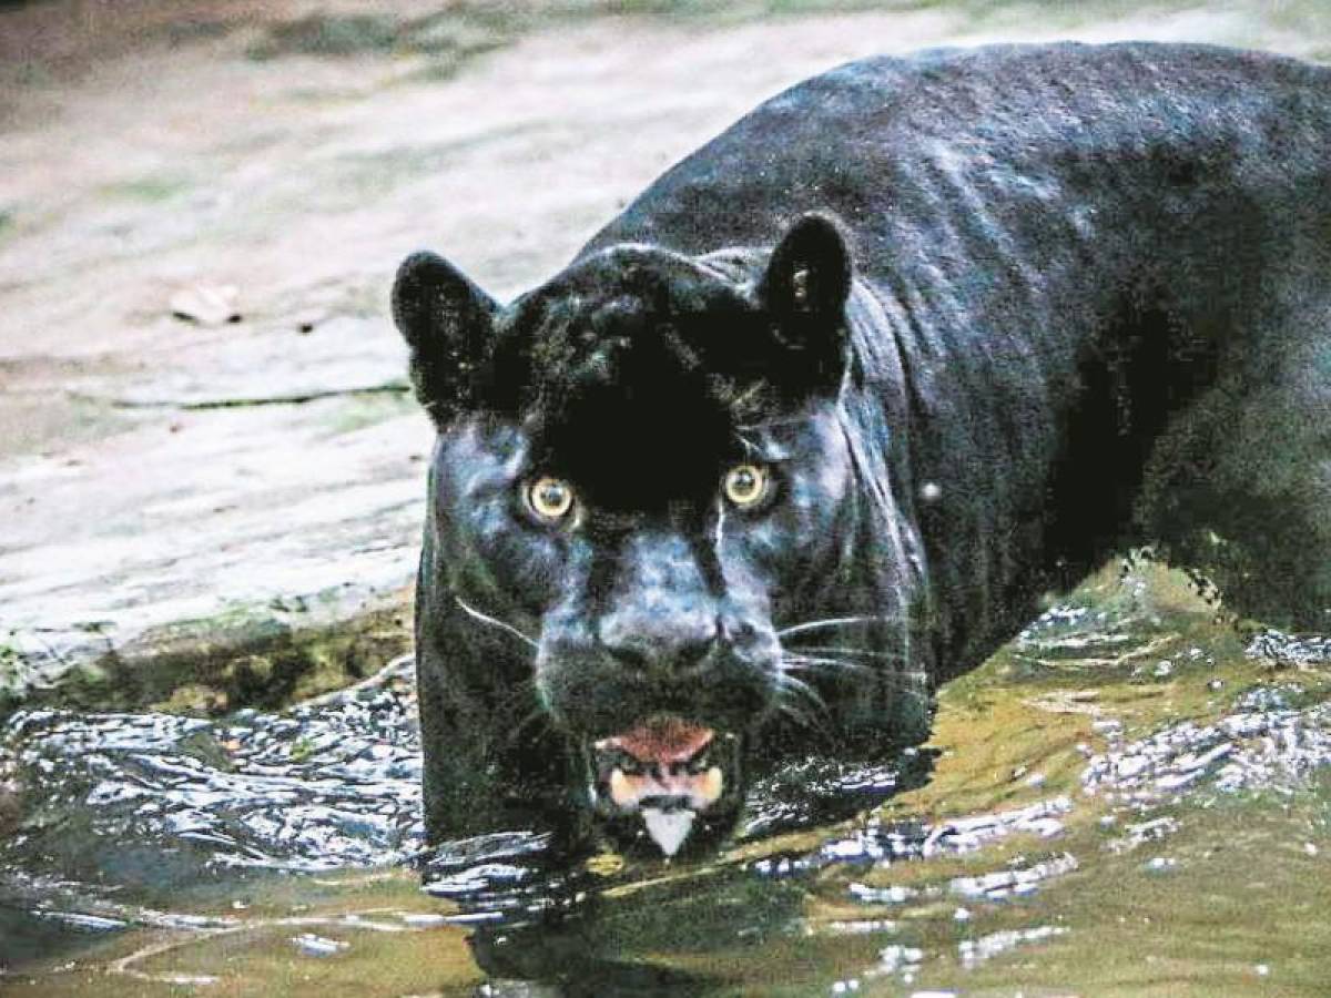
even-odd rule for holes
{"type": "Polygon", "coordinates": [[[639,818],[638,832],[669,858],[700,816],[735,796],[739,744],[736,735],[672,715],[600,739],[591,753],[596,808],[610,817],[639,818]]]}

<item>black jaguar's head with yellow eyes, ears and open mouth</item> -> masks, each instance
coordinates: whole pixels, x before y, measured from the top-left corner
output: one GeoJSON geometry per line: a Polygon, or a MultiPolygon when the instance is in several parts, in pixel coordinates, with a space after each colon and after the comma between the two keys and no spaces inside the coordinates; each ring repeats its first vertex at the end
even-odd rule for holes
{"type": "Polygon", "coordinates": [[[574,796],[667,856],[733,817],[756,732],[824,711],[783,627],[856,591],[849,289],[819,216],[771,253],[614,246],[506,307],[434,254],[397,278],[439,434],[418,613],[511,633],[487,696],[527,697],[574,796]]]}

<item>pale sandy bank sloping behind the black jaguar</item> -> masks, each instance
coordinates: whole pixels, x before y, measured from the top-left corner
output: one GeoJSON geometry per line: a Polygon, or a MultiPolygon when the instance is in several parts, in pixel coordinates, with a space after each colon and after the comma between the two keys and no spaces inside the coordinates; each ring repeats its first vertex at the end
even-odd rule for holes
{"type": "Polygon", "coordinates": [[[0,693],[403,604],[430,430],[386,297],[413,249],[512,295],[756,101],[874,52],[1331,52],[1314,4],[990,7],[516,40],[443,4],[0,8],[0,693]],[[274,43],[385,9],[426,41],[274,43]],[[173,315],[228,286],[238,321],[173,315]]]}

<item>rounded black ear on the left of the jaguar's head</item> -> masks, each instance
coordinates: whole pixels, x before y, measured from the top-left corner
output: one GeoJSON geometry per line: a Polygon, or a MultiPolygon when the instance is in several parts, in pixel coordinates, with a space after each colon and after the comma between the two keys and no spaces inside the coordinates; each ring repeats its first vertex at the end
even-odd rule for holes
{"type": "Polygon", "coordinates": [[[411,350],[411,385],[435,426],[474,407],[499,306],[443,257],[413,253],[393,282],[393,321],[411,350]]]}

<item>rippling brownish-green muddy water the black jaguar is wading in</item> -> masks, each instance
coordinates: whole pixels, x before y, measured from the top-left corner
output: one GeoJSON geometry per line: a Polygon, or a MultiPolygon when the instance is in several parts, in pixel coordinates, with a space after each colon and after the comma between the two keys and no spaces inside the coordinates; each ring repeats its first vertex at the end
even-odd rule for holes
{"type": "Polygon", "coordinates": [[[282,715],[20,713],[0,990],[1326,994],[1327,651],[1107,574],[925,753],[792,766],[673,865],[423,852],[406,663],[282,715]]]}

